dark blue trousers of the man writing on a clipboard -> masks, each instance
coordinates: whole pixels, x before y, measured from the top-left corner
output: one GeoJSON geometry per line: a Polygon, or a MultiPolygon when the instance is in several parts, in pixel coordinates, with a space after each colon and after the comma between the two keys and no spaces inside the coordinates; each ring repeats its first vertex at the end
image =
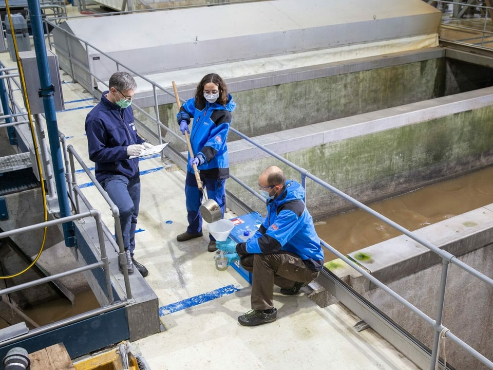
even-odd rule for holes
{"type": "MultiPolygon", "coordinates": [[[[140,204],[140,178],[129,180],[125,176],[115,175],[103,180],[101,186],[120,211],[123,247],[134,255],[135,229],[140,204]]],[[[115,230],[115,235],[117,235],[115,230]]]]}

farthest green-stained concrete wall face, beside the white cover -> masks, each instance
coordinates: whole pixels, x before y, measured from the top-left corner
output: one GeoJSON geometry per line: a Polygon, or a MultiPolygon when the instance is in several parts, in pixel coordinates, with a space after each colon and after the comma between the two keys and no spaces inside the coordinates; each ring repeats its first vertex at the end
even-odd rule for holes
{"type": "MultiPolygon", "coordinates": [[[[445,89],[444,58],[386,68],[374,68],[374,63],[368,60],[370,58],[365,58],[365,62],[362,60],[357,67],[367,68],[364,70],[231,91],[237,103],[232,126],[244,135],[254,137],[433,99],[445,89]]],[[[154,108],[145,108],[145,112],[156,118],[154,108]]],[[[159,119],[181,136],[176,122],[177,113],[176,104],[164,104],[159,108],[159,119]]],[[[136,119],[156,131],[154,123],[144,114],[136,112],[136,119]]],[[[162,135],[164,141],[169,141],[180,151],[186,151],[184,142],[164,130],[162,135]]],[[[238,140],[238,136],[230,134],[228,140],[238,140]]]]}

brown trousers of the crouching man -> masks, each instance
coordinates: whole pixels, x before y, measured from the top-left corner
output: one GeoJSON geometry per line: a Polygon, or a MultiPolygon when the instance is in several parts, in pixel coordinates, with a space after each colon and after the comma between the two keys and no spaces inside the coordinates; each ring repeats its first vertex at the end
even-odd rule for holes
{"type": "Polygon", "coordinates": [[[243,255],[240,263],[252,273],[250,301],[255,310],[274,307],[274,284],[289,289],[295,282],[310,283],[319,274],[310,270],[298,255],[290,252],[243,255]]]}

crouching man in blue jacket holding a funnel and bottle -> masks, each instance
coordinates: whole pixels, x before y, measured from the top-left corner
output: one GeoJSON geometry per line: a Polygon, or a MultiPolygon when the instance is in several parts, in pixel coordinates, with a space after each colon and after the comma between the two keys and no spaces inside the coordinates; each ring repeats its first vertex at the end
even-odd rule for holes
{"type": "Polygon", "coordinates": [[[244,326],[276,320],[274,284],[285,295],[298,293],[316,279],[324,266],[324,252],[313,219],[305,205],[305,189],[286,181],[279,167],[271,166],[258,178],[259,193],[267,200],[267,216],[246,243],[230,238],[216,242],[229,261],[240,258],[241,266],[252,272],[252,310],[238,317],[244,326]]]}

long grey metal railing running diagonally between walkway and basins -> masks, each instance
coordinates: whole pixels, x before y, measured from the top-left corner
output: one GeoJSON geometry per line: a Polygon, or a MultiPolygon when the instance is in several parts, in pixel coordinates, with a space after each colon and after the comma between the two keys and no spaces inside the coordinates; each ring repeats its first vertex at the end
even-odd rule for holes
{"type": "MultiPolygon", "coordinates": [[[[424,0],[424,1],[426,1],[426,0],[424,0]]],[[[452,4],[452,5],[457,5],[457,2],[449,2],[449,1],[443,1],[443,0],[437,0],[437,2],[439,2],[439,3],[446,3],[446,4],[452,4]]],[[[461,3],[460,5],[461,6],[467,6],[468,4],[462,4],[461,3]]],[[[486,9],[485,14],[488,13],[487,12],[487,9],[491,9],[491,8],[485,7],[485,6],[478,6],[478,5],[470,5],[470,6],[485,8],[486,9]]],[[[485,15],[485,18],[487,18],[487,15],[485,15]]],[[[49,22],[49,21],[47,20],[47,22],[49,22]]],[[[486,22],[486,20],[485,20],[485,22],[486,22]]],[[[52,26],[54,28],[58,27],[58,25],[55,25],[55,24],[52,24],[52,26]]],[[[121,68],[125,68],[125,70],[129,71],[130,73],[134,73],[135,76],[139,76],[140,78],[142,78],[143,80],[145,80],[146,82],[148,82],[151,86],[153,86],[153,94],[154,94],[154,102],[155,102],[155,107],[154,108],[155,108],[156,118],[154,118],[154,117],[150,116],[149,114],[147,114],[146,112],[144,112],[144,110],[142,110],[140,107],[138,107],[138,109],[141,110],[141,112],[145,116],[147,116],[148,118],[150,118],[151,120],[153,120],[157,124],[157,128],[158,128],[157,131],[159,133],[159,136],[158,137],[160,139],[160,141],[159,141],[160,143],[162,142],[161,141],[162,138],[161,138],[161,134],[160,134],[159,128],[163,128],[164,130],[166,130],[167,132],[169,132],[170,134],[172,134],[173,136],[175,136],[176,138],[178,138],[179,140],[181,140],[181,141],[184,142],[184,140],[179,135],[177,135],[173,131],[169,130],[169,128],[167,128],[166,126],[164,126],[161,123],[161,121],[159,120],[159,109],[158,109],[159,107],[158,107],[157,90],[159,89],[159,90],[163,91],[164,93],[169,94],[171,96],[174,96],[174,93],[172,93],[172,92],[164,89],[162,86],[156,84],[154,81],[151,81],[151,80],[147,79],[145,76],[141,76],[136,71],[132,70],[131,68],[126,67],[123,63],[120,63],[118,60],[115,60],[115,59],[111,58],[109,55],[106,55],[106,53],[104,53],[102,50],[98,49],[97,47],[94,47],[93,45],[89,44],[88,42],[86,42],[86,41],[84,41],[84,40],[82,40],[80,38],[78,38],[77,36],[74,36],[74,35],[66,32],[65,30],[61,29],[60,27],[58,27],[58,28],[62,32],[65,32],[68,37],[71,37],[71,38],[73,38],[75,40],[78,40],[79,42],[81,42],[81,43],[83,43],[85,45],[86,52],[87,52],[87,58],[89,58],[89,54],[88,54],[88,52],[89,52],[88,50],[89,49],[88,49],[88,47],[91,47],[92,49],[94,49],[94,50],[96,50],[96,51],[104,54],[108,59],[110,59],[113,62],[115,62],[116,70],[120,70],[121,68]]],[[[484,34],[485,33],[483,33],[483,37],[484,37],[484,34]]],[[[63,53],[64,51],[57,50],[57,52],[62,52],[63,53]]],[[[70,50],[69,50],[69,53],[70,53],[70,50]]],[[[72,55],[67,54],[67,55],[65,55],[65,57],[67,57],[71,61],[73,60],[73,56],[72,55]]],[[[84,71],[86,71],[88,73],[88,75],[91,77],[91,79],[97,80],[97,81],[99,81],[99,82],[101,82],[101,83],[104,84],[103,81],[101,81],[100,79],[98,79],[96,76],[92,75],[92,73],[87,68],[85,68],[82,63],[80,63],[78,61],[75,61],[75,60],[74,60],[74,63],[77,64],[84,71]]],[[[72,73],[72,76],[73,76],[73,73],[72,73]]],[[[95,96],[94,95],[94,89],[92,91],[92,95],[93,95],[93,97],[95,96]]],[[[383,215],[381,215],[381,214],[373,211],[371,208],[365,206],[364,204],[362,204],[358,200],[351,198],[347,194],[345,194],[345,193],[339,191],[338,189],[332,187],[330,184],[326,183],[325,181],[319,179],[318,177],[316,177],[314,175],[311,175],[310,172],[307,171],[306,169],[302,169],[302,168],[298,167],[296,164],[294,164],[294,163],[286,160],[285,158],[277,155],[276,153],[270,151],[269,149],[267,149],[267,147],[264,147],[263,145],[256,143],[255,141],[253,141],[249,137],[247,137],[247,136],[243,135],[242,133],[240,133],[239,131],[235,130],[233,127],[230,128],[230,131],[232,131],[233,133],[235,133],[236,135],[238,135],[242,139],[244,139],[244,140],[250,142],[251,144],[255,145],[256,147],[258,147],[259,149],[263,150],[264,152],[270,154],[272,157],[278,159],[282,163],[288,165],[293,170],[297,171],[300,174],[301,185],[305,189],[307,188],[306,180],[307,179],[310,179],[310,180],[318,183],[320,186],[322,186],[322,187],[330,190],[331,192],[337,194],[338,196],[343,197],[347,201],[351,202],[354,206],[362,209],[365,212],[369,212],[370,214],[372,214],[373,216],[377,217],[378,219],[380,219],[384,223],[386,223],[389,226],[391,226],[391,227],[393,227],[393,228],[401,231],[403,234],[409,236],[414,241],[422,244],[424,247],[426,247],[427,249],[429,249],[431,252],[439,255],[441,257],[441,259],[442,259],[442,272],[441,272],[441,279],[440,279],[440,286],[439,286],[438,297],[436,298],[436,300],[437,300],[437,312],[435,313],[435,318],[432,319],[429,316],[427,316],[424,312],[422,312],[419,308],[415,307],[410,302],[408,302],[403,297],[401,297],[399,294],[397,294],[396,292],[394,292],[393,290],[391,290],[385,284],[383,284],[379,280],[375,279],[371,274],[369,274],[368,272],[366,272],[365,270],[363,270],[361,267],[359,267],[357,264],[355,264],[352,260],[349,260],[349,258],[347,258],[345,255],[343,255],[340,252],[338,252],[336,249],[334,249],[332,246],[330,246],[329,244],[327,244],[325,241],[321,241],[321,244],[323,244],[324,247],[327,248],[330,252],[332,252],[335,255],[337,255],[344,262],[346,262],[349,266],[351,266],[351,268],[353,268],[356,271],[358,271],[359,273],[361,273],[363,276],[365,276],[366,279],[370,280],[373,284],[375,284],[376,286],[378,286],[379,288],[381,288],[384,292],[386,292],[387,294],[389,294],[390,297],[392,297],[393,299],[395,299],[396,301],[398,301],[399,303],[401,303],[404,307],[406,307],[407,309],[409,309],[415,315],[419,316],[428,325],[431,326],[431,328],[434,331],[434,336],[433,336],[433,346],[432,346],[432,349],[431,349],[430,370],[433,370],[435,368],[435,364],[439,360],[439,347],[438,347],[438,345],[439,345],[440,335],[444,335],[445,337],[450,338],[454,343],[456,343],[459,346],[461,346],[462,348],[464,348],[466,350],[466,352],[469,353],[471,356],[475,357],[476,359],[478,359],[479,361],[481,361],[483,364],[485,364],[489,368],[493,369],[493,362],[491,362],[489,359],[487,359],[482,354],[480,354],[476,349],[472,348],[467,343],[463,342],[460,338],[458,338],[456,335],[454,335],[450,330],[448,330],[442,324],[444,301],[445,301],[445,288],[446,288],[446,283],[447,283],[447,272],[448,272],[448,267],[449,267],[450,264],[453,264],[453,265],[458,266],[462,270],[466,271],[467,273],[471,274],[472,276],[475,276],[477,279],[480,279],[481,281],[485,282],[486,284],[488,284],[491,287],[493,287],[493,280],[492,279],[488,278],[488,276],[480,273],[479,271],[471,268],[467,264],[464,264],[463,262],[461,262],[460,260],[458,260],[458,258],[456,256],[452,255],[451,253],[448,253],[446,251],[441,250],[440,248],[438,248],[438,247],[434,246],[433,244],[427,242],[425,239],[423,239],[423,238],[415,235],[411,231],[409,231],[409,230],[403,228],[402,226],[394,223],[394,221],[392,221],[392,220],[388,219],[387,217],[385,217],[385,216],[383,216],[383,215]]],[[[81,165],[82,165],[82,163],[81,163],[81,165]]],[[[88,169],[85,168],[84,169],[84,172],[87,173],[87,170],[88,169]]],[[[72,173],[72,178],[73,177],[74,177],[74,174],[72,173]]],[[[250,188],[247,184],[243,183],[236,176],[231,175],[231,178],[234,181],[236,181],[237,183],[239,183],[241,187],[247,189],[254,196],[258,197],[259,199],[262,199],[257,194],[256,191],[254,191],[252,188],[250,188]]],[[[308,194],[308,192],[307,192],[307,194],[308,194]]]]}

